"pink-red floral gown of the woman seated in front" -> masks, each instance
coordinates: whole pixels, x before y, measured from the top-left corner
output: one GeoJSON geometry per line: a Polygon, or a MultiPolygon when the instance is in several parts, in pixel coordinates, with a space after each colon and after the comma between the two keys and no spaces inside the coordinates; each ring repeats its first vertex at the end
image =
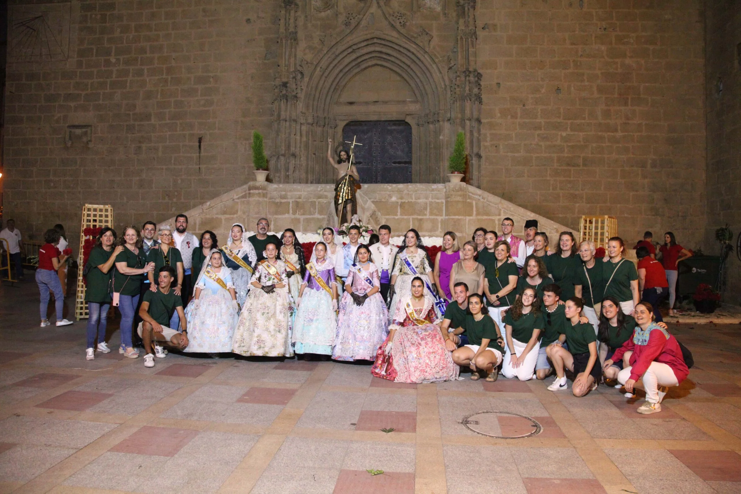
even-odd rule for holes
{"type": "Polygon", "coordinates": [[[425,298],[425,307],[415,309],[417,318],[428,324],[418,325],[405,310],[408,298],[399,303],[393,324],[396,330],[391,347],[391,358],[384,358],[388,338],[379,347],[376,363],[371,373],[379,378],[405,383],[431,383],[458,378],[459,367],[453,362],[451,352],[445,349],[432,302],[425,298]],[[391,367],[391,368],[389,368],[391,367]]]}

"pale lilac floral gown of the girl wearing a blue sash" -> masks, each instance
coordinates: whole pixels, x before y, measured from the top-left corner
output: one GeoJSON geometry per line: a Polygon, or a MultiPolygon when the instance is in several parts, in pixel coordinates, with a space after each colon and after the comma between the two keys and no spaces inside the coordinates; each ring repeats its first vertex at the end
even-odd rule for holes
{"type": "MultiPolygon", "coordinates": [[[[362,274],[350,267],[346,284],[353,293],[363,295],[380,285],[376,264],[368,263],[362,274]],[[371,281],[369,283],[368,281],[371,281]]],[[[361,306],[355,304],[350,293],[345,292],[339,302],[337,334],[332,358],[336,360],[373,360],[379,344],[388,335],[388,309],[380,292],[369,296],[361,306]]]]}

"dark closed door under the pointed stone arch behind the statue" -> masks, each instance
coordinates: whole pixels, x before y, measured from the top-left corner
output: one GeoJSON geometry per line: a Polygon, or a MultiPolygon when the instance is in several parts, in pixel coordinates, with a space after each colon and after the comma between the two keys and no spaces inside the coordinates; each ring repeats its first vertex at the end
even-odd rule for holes
{"type": "MultiPolygon", "coordinates": [[[[411,184],[412,126],[403,120],[350,121],[342,141],[353,141],[362,184],[411,184]]],[[[347,147],[347,144],[345,144],[347,147]]]]}

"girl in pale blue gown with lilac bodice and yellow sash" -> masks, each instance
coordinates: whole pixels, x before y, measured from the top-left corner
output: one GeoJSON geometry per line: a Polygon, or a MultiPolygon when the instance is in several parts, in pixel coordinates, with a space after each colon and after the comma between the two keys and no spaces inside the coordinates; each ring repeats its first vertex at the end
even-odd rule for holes
{"type": "Polygon", "coordinates": [[[293,321],[293,351],[297,354],[332,355],[337,327],[337,283],[334,263],[327,258],[327,244],[314,246],[314,260],[306,265],[306,274],[296,299],[293,321]]]}

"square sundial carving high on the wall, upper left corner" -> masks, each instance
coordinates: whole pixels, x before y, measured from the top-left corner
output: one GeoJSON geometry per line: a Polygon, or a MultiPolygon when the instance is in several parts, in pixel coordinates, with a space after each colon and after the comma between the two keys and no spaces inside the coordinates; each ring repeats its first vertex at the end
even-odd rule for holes
{"type": "Polygon", "coordinates": [[[63,61],[70,51],[70,3],[10,7],[8,61],[63,61]]]}

